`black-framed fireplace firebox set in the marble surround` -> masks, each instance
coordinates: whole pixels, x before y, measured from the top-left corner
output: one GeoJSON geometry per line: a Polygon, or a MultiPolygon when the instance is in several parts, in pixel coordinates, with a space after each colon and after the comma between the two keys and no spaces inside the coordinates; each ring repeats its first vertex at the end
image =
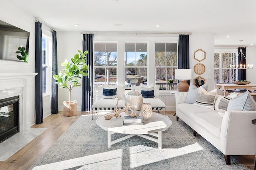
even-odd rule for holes
{"type": "Polygon", "coordinates": [[[19,132],[19,96],[0,100],[0,143],[19,132]]]}

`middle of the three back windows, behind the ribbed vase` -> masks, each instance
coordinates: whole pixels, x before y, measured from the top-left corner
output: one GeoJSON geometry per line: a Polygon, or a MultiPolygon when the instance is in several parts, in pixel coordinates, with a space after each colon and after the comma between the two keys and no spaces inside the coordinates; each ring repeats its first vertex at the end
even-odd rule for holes
{"type": "Polygon", "coordinates": [[[128,90],[132,85],[147,84],[147,43],[124,44],[124,80],[128,90]]]}

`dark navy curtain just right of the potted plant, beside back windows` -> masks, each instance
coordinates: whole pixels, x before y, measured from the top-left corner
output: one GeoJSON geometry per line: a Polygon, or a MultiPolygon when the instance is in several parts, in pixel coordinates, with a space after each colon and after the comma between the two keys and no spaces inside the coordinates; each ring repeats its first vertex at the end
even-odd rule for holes
{"type": "Polygon", "coordinates": [[[93,97],[93,34],[83,35],[83,52],[88,51],[86,55],[88,65],[88,76],[82,78],[82,111],[92,110],[93,97]]]}

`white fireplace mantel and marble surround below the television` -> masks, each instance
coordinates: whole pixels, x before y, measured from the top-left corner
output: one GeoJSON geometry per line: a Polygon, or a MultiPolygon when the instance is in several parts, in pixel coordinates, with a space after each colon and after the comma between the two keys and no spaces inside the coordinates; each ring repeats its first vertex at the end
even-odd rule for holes
{"type": "Polygon", "coordinates": [[[0,99],[19,96],[20,131],[35,122],[35,76],[38,73],[0,73],[0,99]]]}

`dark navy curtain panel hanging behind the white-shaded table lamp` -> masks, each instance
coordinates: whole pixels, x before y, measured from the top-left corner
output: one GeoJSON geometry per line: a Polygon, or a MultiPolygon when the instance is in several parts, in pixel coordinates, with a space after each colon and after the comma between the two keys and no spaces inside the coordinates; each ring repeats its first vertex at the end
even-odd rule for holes
{"type": "Polygon", "coordinates": [[[178,69],[182,68],[189,69],[189,35],[179,35],[178,69]]]}

